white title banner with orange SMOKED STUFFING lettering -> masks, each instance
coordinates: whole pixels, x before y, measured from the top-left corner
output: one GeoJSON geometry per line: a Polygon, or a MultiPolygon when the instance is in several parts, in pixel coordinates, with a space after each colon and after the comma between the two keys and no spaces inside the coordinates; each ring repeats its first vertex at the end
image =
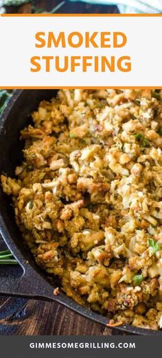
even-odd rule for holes
{"type": "MultiPolygon", "coordinates": [[[[0,87],[156,87],[162,88],[162,17],[161,16],[1,16],[1,56],[0,56],[0,87]],[[37,32],[45,32],[45,47],[36,47],[37,32]],[[47,47],[48,33],[53,32],[57,38],[60,32],[65,32],[66,47],[61,44],[56,48],[47,47]],[[71,32],[80,32],[83,43],[80,47],[71,47],[67,38],[71,32]],[[85,47],[85,32],[93,34],[99,47],[85,47]],[[111,47],[101,48],[100,33],[110,32],[111,47]],[[122,32],[127,42],[124,47],[113,47],[113,33],[122,32]],[[40,70],[31,71],[34,66],[31,58],[40,58],[40,70]],[[52,56],[49,72],[42,56],[52,56]],[[68,58],[68,69],[63,72],[56,70],[56,56],[59,57],[60,67],[63,67],[65,56],[68,58]],[[71,56],[78,56],[78,65],[71,72],[71,56]],[[83,56],[90,56],[86,72],[82,69],[83,56]],[[106,56],[111,60],[115,56],[115,70],[102,72],[101,58],[106,56]],[[130,71],[121,71],[117,60],[129,56],[130,71]],[[98,58],[98,69],[95,72],[94,58],[98,58]]],[[[76,41],[77,41],[76,37],[76,41]]],[[[73,38],[73,42],[75,38],[73,38]]],[[[123,62],[123,67],[126,63],[123,62]]]]}

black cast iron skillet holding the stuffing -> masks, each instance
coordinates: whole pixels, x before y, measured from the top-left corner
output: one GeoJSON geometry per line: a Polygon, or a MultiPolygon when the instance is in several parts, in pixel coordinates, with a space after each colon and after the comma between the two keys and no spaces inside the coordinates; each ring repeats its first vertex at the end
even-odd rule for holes
{"type": "MultiPolygon", "coordinates": [[[[36,110],[42,99],[50,99],[56,95],[56,90],[23,90],[15,91],[3,111],[0,119],[0,173],[14,176],[14,168],[21,163],[23,143],[19,141],[19,133],[30,121],[30,113],[36,110]]],[[[12,268],[10,276],[1,275],[0,271],[0,294],[24,296],[28,298],[42,298],[54,300],[90,318],[95,322],[107,324],[108,319],[89,309],[81,307],[65,294],[54,296],[54,285],[50,283],[42,270],[36,265],[32,254],[25,248],[21,232],[14,221],[13,208],[10,198],[4,195],[0,188],[0,232],[21,265],[19,277],[15,277],[12,268]]],[[[137,335],[161,335],[162,331],[139,329],[131,325],[119,326],[119,331],[137,335]]]]}

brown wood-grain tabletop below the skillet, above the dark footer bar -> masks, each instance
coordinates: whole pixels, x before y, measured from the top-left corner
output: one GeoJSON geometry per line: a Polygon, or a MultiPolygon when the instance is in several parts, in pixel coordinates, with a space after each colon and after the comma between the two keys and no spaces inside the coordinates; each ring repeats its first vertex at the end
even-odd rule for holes
{"type": "MultiPolygon", "coordinates": [[[[82,318],[54,302],[0,298],[1,335],[111,335],[102,324],[82,318]],[[16,312],[12,310],[16,306],[16,312]],[[9,314],[9,315],[8,315],[9,314]]],[[[117,334],[114,332],[114,334],[117,334]]]]}

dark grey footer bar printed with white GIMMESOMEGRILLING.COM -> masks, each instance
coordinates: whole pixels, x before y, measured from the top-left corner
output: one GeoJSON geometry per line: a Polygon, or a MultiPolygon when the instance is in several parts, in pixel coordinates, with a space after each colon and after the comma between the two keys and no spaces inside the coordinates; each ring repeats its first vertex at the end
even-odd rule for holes
{"type": "Polygon", "coordinates": [[[161,335],[12,335],[0,336],[0,344],[5,358],[137,358],[143,350],[159,358],[161,335]]]}

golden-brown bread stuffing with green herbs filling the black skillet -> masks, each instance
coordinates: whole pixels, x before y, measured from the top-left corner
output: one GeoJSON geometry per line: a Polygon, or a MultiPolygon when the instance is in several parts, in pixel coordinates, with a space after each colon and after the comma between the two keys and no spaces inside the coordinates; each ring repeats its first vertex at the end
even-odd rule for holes
{"type": "Polygon", "coordinates": [[[1,174],[36,263],[80,305],[162,328],[162,95],[60,90],[1,174]]]}

